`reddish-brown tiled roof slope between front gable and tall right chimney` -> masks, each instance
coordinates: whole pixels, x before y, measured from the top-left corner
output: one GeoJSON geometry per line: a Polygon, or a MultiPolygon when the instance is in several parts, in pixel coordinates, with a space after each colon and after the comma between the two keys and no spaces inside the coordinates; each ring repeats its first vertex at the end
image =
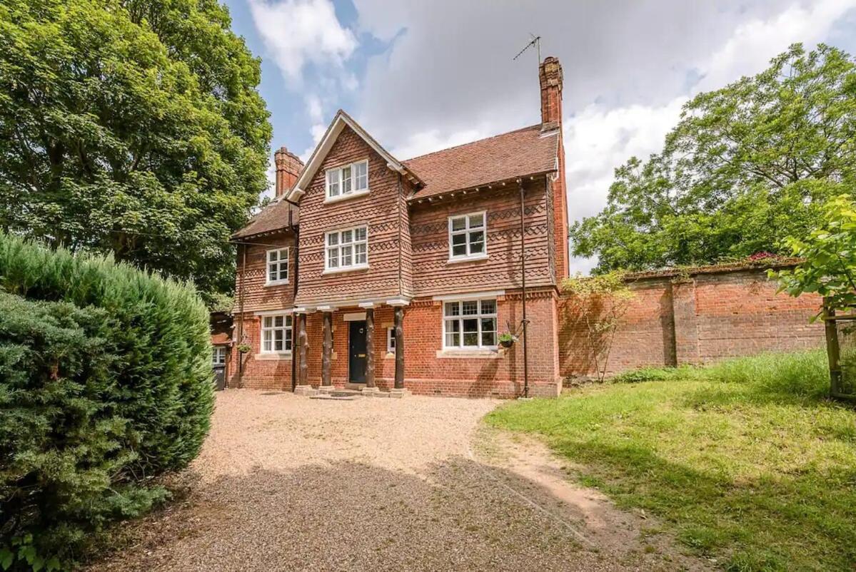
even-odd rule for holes
{"type": "Polygon", "coordinates": [[[558,132],[541,132],[541,124],[524,127],[413,157],[402,163],[419,178],[425,187],[414,197],[431,197],[443,192],[488,185],[500,180],[541,174],[556,169],[558,132]]]}

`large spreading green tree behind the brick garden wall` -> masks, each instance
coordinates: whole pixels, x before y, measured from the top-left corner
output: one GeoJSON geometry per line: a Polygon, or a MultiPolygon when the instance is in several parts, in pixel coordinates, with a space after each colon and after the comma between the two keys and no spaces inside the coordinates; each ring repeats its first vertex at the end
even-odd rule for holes
{"type": "Polygon", "coordinates": [[[597,272],[787,252],[823,204],[852,193],[856,64],[795,44],[770,68],[698,94],[647,162],[615,169],[608,204],[574,224],[577,256],[597,272]]]}

